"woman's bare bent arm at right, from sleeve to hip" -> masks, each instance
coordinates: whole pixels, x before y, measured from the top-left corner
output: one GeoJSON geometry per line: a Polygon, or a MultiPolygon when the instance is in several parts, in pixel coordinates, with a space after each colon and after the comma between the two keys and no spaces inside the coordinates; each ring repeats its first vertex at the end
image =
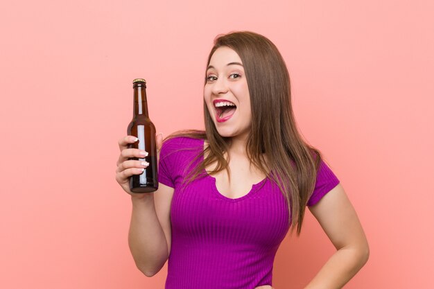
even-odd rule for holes
{"type": "Polygon", "coordinates": [[[370,254],[356,211],[340,184],[309,209],[337,251],[304,289],[342,288],[370,254]]]}

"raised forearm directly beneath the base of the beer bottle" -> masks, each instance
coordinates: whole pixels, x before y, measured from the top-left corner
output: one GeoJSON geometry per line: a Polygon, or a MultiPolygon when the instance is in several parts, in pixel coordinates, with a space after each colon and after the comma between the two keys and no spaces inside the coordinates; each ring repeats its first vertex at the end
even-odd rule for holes
{"type": "Polygon", "coordinates": [[[153,195],[141,200],[132,197],[128,244],[137,268],[146,276],[153,276],[166,263],[168,247],[157,218],[153,195]]]}

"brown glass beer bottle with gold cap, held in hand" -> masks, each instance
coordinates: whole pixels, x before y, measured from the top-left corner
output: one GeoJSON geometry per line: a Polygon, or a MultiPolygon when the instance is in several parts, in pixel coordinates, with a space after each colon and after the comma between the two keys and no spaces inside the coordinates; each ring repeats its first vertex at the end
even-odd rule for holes
{"type": "Polygon", "coordinates": [[[133,157],[130,159],[148,161],[149,166],[141,175],[130,177],[130,191],[133,193],[150,193],[157,191],[157,143],[155,143],[155,125],[150,121],[148,103],[146,100],[146,80],[137,78],[132,81],[134,89],[134,112],[132,121],[128,125],[128,135],[139,139],[130,144],[130,148],[146,150],[148,156],[144,158],[133,157]]]}

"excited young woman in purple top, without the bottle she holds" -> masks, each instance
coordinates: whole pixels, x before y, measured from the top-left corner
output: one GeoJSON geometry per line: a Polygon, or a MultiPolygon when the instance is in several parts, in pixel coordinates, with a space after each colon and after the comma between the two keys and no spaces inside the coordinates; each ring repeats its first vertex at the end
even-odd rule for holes
{"type": "Polygon", "coordinates": [[[300,234],[306,206],[336,253],[306,289],[342,288],[369,247],[356,212],[320,151],[297,131],[285,62],[262,35],[215,40],[204,88],[205,132],[159,143],[159,189],[134,194],[128,177],[146,152],[119,141],[116,180],[131,195],[129,245],[151,277],[168,260],[166,289],[271,288],[277,249],[300,234]]]}

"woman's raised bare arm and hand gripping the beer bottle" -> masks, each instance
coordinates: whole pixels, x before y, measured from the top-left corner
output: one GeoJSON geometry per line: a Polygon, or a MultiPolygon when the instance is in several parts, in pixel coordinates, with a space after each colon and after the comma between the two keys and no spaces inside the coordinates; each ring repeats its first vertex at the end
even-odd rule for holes
{"type": "MultiPolygon", "coordinates": [[[[151,277],[161,268],[171,252],[171,220],[170,208],[173,188],[158,185],[154,193],[132,193],[128,178],[141,174],[141,168],[146,168],[140,161],[128,160],[130,157],[143,157],[140,150],[128,148],[134,143],[134,137],[128,136],[119,140],[118,168],[116,181],[122,189],[131,195],[132,215],[128,244],[137,268],[146,276],[151,277]]],[[[162,136],[157,136],[157,147],[161,148],[162,136]]]]}

